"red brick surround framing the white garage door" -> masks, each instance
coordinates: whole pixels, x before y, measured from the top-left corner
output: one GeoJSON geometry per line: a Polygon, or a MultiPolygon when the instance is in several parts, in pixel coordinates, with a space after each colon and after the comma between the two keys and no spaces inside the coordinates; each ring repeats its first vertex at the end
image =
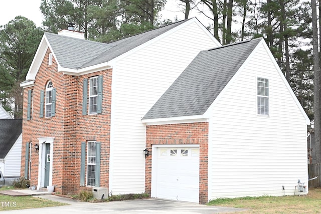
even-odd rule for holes
{"type": "Polygon", "coordinates": [[[200,203],[208,202],[208,122],[146,126],[145,192],[151,193],[151,150],[155,144],[200,145],[200,203]],[[178,140],[174,140],[178,139],[178,140]]]}

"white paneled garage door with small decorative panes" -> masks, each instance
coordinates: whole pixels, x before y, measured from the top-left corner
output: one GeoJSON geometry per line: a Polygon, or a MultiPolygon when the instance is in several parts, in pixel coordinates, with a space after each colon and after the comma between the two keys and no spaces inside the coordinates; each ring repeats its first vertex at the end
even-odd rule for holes
{"type": "Polygon", "coordinates": [[[157,149],[156,197],[199,202],[199,148],[157,149]]]}

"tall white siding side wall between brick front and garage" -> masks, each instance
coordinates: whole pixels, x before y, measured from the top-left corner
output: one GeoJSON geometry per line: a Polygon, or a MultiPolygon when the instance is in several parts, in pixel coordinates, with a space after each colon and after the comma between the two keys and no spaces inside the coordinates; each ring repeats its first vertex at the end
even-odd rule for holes
{"type": "Polygon", "coordinates": [[[113,194],[144,192],[141,118],[201,50],[213,47],[214,41],[193,22],[113,67],[109,178],[113,194]]]}

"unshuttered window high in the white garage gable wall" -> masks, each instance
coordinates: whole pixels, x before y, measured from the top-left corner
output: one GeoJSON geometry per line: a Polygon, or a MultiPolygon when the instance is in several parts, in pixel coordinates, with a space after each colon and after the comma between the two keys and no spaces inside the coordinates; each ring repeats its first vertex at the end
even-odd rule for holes
{"type": "Polygon", "coordinates": [[[257,114],[269,115],[269,80],[257,78],[257,114]]]}

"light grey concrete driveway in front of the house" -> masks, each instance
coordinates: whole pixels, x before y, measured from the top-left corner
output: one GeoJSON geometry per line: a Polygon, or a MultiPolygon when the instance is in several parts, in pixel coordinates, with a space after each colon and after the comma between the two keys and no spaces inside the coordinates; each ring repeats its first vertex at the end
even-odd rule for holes
{"type": "Polygon", "coordinates": [[[2,211],[5,213],[32,213],[32,214],[89,214],[89,213],[226,213],[242,211],[244,209],[233,207],[221,207],[221,206],[208,206],[197,203],[181,202],[173,200],[162,199],[139,199],[139,200],[126,200],[126,201],[111,201],[101,203],[89,203],[81,202],[61,196],[55,195],[39,195],[38,197],[46,198],[49,200],[60,201],[69,203],[70,205],[55,206],[55,207],[43,207],[34,209],[19,209],[12,211],[2,211]]]}

